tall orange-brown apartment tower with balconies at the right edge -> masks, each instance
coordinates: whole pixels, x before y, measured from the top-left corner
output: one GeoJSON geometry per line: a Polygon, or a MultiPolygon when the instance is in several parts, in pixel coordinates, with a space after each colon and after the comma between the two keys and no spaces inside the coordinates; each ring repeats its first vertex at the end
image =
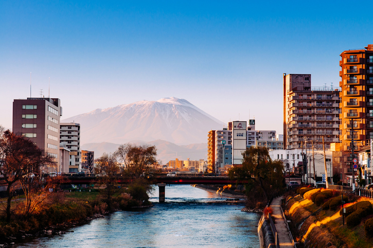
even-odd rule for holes
{"type": "Polygon", "coordinates": [[[343,51],[340,66],[341,176],[346,181],[345,175],[352,175],[352,138],[355,151],[368,146],[373,138],[373,45],[343,51]]]}

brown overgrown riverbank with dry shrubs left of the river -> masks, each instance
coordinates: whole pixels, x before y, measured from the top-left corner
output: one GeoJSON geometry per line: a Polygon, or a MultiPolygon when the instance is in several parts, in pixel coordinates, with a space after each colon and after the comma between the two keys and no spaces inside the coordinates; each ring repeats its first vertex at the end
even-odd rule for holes
{"type": "MultiPolygon", "coordinates": [[[[22,196],[20,196],[22,197],[22,196]]],[[[43,235],[48,228],[66,227],[84,222],[90,217],[105,215],[115,210],[151,205],[146,189],[139,185],[116,191],[110,198],[100,192],[55,192],[35,208],[32,215],[25,214],[26,199],[12,201],[12,218],[6,222],[5,205],[0,208],[0,244],[27,236],[43,235]]]]}

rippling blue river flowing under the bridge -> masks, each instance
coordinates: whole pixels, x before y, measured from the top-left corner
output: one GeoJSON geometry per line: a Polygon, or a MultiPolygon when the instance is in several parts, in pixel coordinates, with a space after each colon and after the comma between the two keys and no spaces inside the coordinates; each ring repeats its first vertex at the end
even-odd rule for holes
{"type": "Polygon", "coordinates": [[[190,185],[167,186],[166,202],[158,203],[157,189],[151,208],[118,211],[13,247],[259,247],[258,214],[216,203],[227,198],[190,185]]]}

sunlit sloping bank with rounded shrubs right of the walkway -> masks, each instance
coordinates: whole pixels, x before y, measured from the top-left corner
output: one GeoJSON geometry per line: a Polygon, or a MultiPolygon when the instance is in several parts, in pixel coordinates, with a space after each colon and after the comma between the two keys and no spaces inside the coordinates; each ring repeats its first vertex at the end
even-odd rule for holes
{"type": "Polygon", "coordinates": [[[345,196],[347,214],[344,216],[343,225],[340,192],[319,189],[309,192],[288,196],[286,204],[286,214],[292,220],[291,226],[297,234],[297,241],[302,242],[304,247],[370,248],[373,246],[373,238],[369,236],[370,232],[366,232],[366,223],[373,217],[370,199],[345,196]],[[318,194],[322,193],[323,196],[318,197],[318,194]],[[353,208],[356,209],[358,205],[358,211],[354,210],[353,208]],[[362,209],[364,210],[361,211],[362,209]],[[346,217],[347,215],[349,217],[346,217]]]}

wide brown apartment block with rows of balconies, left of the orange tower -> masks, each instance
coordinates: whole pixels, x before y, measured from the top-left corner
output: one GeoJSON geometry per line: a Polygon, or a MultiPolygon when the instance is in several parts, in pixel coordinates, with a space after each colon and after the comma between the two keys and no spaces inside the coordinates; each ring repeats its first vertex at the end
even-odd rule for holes
{"type": "Polygon", "coordinates": [[[311,87],[311,74],[283,74],[284,149],[305,148],[307,140],[323,149],[323,136],[326,149],[340,142],[340,92],[339,87],[311,87]]]}

